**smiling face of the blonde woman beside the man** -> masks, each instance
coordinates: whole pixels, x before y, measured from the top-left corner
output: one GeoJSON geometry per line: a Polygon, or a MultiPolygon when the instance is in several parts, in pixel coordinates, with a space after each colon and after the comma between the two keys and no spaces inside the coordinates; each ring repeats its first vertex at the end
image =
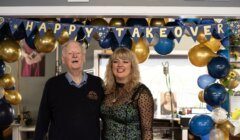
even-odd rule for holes
{"type": "Polygon", "coordinates": [[[112,71],[119,83],[127,83],[131,73],[131,61],[128,59],[114,59],[112,61],[112,71]]]}

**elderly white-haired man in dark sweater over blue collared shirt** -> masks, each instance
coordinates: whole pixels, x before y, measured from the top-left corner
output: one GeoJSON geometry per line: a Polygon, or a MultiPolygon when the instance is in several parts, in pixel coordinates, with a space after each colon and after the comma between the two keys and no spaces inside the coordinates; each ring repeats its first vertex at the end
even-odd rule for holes
{"type": "Polygon", "coordinates": [[[67,72],[50,78],[44,88],[34,140],[98,140],[104,92],[99,77],[83,72],[86,50],[76,41],[62,48],[67,72]]]}

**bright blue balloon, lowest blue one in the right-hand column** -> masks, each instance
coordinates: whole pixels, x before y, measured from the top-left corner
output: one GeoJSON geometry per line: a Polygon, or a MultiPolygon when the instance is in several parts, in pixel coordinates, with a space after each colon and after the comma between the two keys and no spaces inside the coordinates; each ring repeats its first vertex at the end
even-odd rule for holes
{"type": "Polygon", "coordinates": [[[196,136],[207,135],[214,126],[212,118],[205,114],[195,115],[189,122],[189,130],[196,136]]]}

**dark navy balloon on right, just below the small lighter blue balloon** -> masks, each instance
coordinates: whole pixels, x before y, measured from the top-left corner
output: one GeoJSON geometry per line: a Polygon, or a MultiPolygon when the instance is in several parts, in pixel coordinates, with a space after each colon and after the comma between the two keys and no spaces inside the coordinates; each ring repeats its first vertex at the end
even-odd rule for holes
{"type": "Polygon", "coordinates": [[[214,83],[204,89],[204,101],[210,106],[220,106],[224,103],[227,91],[221,84],[214,83]]]}

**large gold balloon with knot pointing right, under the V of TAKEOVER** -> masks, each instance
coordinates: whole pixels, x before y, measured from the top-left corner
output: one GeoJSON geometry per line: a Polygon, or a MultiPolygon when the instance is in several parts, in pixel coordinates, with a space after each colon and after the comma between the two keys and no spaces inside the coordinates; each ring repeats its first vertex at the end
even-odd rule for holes
{"type": "Polygon", "coordinates": [[[203,67],[208,64],[208,62],[216,57],[217,54],[212,52],[211,49],[204,46],[203,44],[199,44],[191,48],[188,52],[188,58],[190,62],[198,67],[203,67]]]}

